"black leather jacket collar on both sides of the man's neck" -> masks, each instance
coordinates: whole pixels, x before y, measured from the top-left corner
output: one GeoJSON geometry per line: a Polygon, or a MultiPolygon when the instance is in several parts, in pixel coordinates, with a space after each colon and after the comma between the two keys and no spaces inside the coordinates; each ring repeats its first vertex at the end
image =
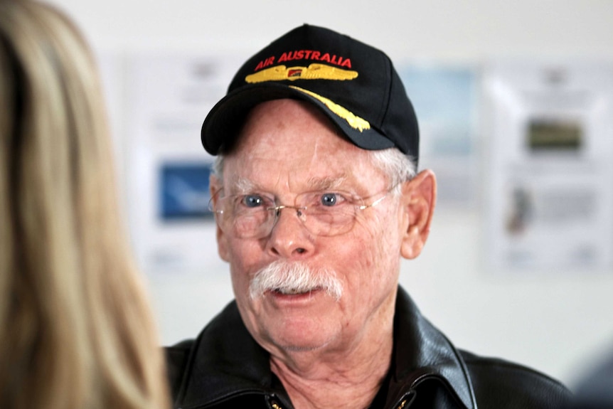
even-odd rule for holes
{"type": "MultiPolygon", "coordinates": [[[[424,381],[435,380],[465,408],[475,409],[471,381],[458,351],[422,317],[401,287],[395,311],[388,402],[399,400],[424,381]]],[[[196,339],[178,402],[188,409],[242,393],[274,394],[287,399],[282,386],[274,381],[269,357],[245,328],[236,302],[231,302],[196,339]]]]}

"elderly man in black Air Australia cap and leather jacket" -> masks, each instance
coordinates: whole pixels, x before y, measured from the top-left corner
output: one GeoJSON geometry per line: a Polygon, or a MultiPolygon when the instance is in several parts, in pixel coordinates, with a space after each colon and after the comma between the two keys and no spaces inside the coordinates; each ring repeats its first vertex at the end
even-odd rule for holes
{"type": "Polygon", "coordinates": [[[202,127],[235,302],[167,349],[176,408],[556,408],[560,383],[456,349],[398,287],[436,201],[390,59],[296,28],[202,127]]]}

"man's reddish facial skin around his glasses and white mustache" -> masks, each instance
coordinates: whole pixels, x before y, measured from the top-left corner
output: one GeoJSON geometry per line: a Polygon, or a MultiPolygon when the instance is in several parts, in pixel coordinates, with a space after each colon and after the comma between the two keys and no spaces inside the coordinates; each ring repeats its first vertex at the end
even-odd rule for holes
{"type": "MultiPolygon", "coordinates": [[[[369,204],[391,187],[366,151],[337,136],[321,113],[294,100],[265,102],[252,110],[235,151],[225,158],[223,178],[223,196],[265,193],[277,206],[293,206],[300,193],[321,189],[372,196],[369,204]]],[[[346,351],[390,318],[403,234],[399,203],[388,195],[356,211],[351,230],[331,237],[311,234],[291,208],[280,211],[263,238],[238,238],[218,228],[219,253],[230,263],[241,317],[260,345],[272,354],[346,351]],[[272,262],[334,271],[341,298],[320,289],[303,294],[269,290],[250,297],[255,273],[272,262]]]]}

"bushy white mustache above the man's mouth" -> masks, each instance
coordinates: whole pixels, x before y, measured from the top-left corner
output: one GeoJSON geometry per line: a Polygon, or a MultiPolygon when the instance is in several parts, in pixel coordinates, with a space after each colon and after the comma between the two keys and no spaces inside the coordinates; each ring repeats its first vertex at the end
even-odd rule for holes
{"type": "Polygon", "coordinates": [[[343,295],[343,284],[336,277],[334,270],[314,270],[304,262],[277,260],[256,272],[249,285],[252,299],[262,297],[267,291],[304,294],[313,290],[324,290],[339,301],[343,295]]]}

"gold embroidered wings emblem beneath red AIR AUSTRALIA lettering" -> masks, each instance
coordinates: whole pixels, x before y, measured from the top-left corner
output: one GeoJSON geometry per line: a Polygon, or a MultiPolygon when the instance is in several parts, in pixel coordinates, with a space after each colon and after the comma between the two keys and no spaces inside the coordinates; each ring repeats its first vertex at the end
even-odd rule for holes
{"type": "Polygon", "coordinates": [[[325,64],[313,63],[308,67],[289,67],[277,65],[267,68],[259,73],[247,75],[245,81],[250,84],[263,83],[265,81],[282,80],[353,80],[357,78],[357,71],[343,70],[325,64]]]}

